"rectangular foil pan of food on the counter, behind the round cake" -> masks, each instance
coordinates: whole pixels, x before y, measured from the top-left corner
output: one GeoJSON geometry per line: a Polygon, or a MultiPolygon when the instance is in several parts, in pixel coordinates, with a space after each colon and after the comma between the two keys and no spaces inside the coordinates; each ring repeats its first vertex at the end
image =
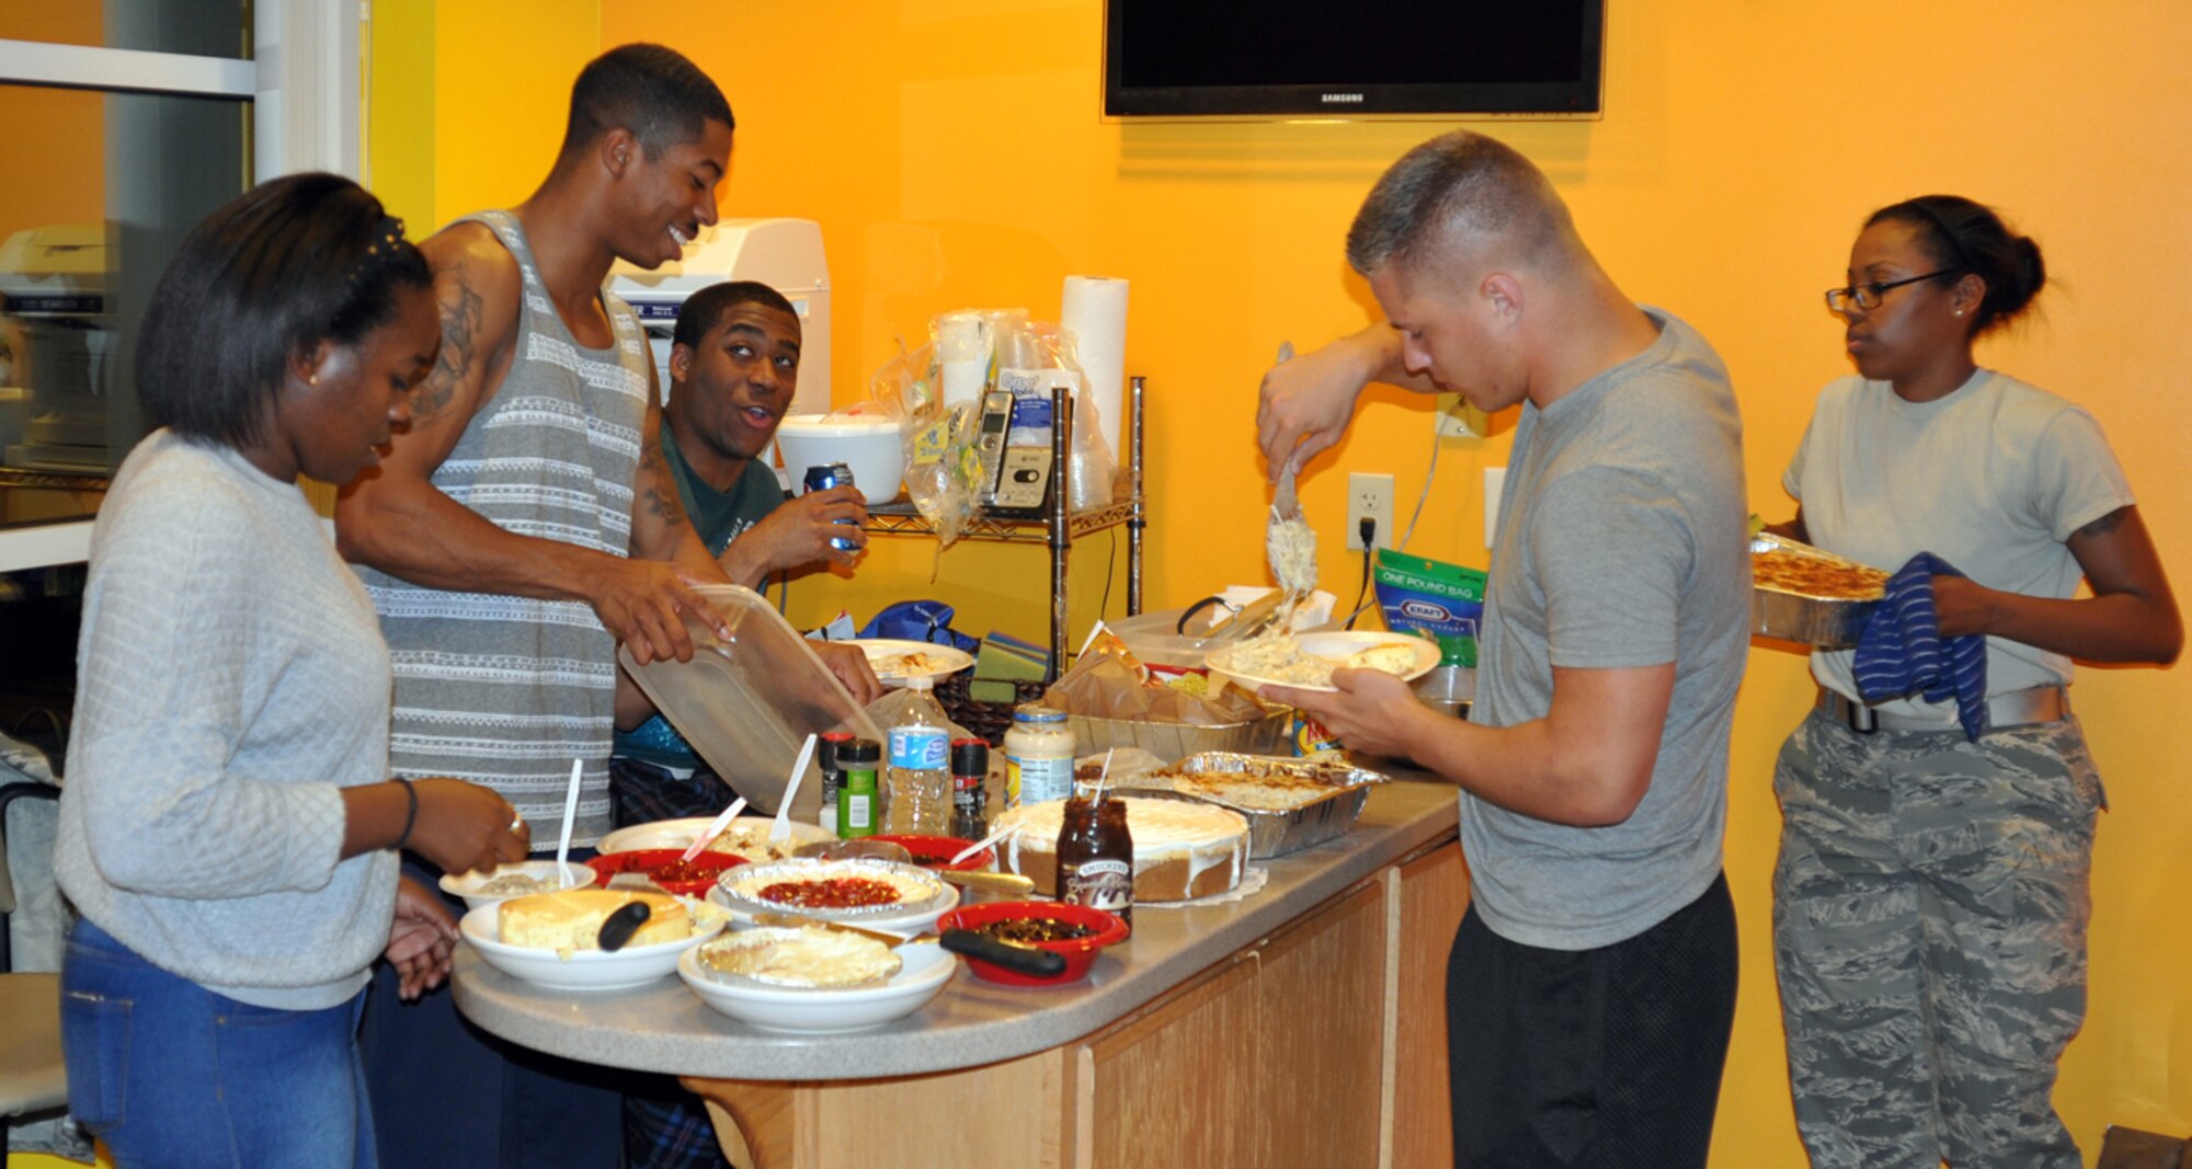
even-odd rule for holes
{"type": "Polygon", "coordinates": [[[1249,860],[1267,860],[1346,836],[1370,799],[1370,784],[1385,779],[1342,760],[1203,751],[1164,771],[1135,775],[1131,784],[1133,795],[1203,799],[1241,812],[1249,860]]]}

